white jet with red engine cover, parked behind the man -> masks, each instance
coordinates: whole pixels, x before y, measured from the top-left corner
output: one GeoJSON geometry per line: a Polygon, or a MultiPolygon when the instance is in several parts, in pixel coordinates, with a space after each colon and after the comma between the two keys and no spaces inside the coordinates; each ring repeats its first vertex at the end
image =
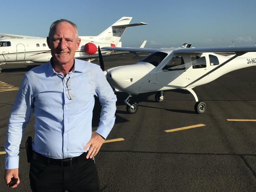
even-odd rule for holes
{"type": "MultiPolygon", "coordinates": [[[[145,25],[140,22],[129,24],[132,17],[122,17],[97,36],[80,36],[80,47],[75,53],[75,58],[98,57],[97,47],[120,47],[121,36],[127,27],[145,25]]],[[[46,38],[31,37],[23,35],[10,35],[22,38],[0,37],[0,65],[8,62],[49,62],[51,58],[50,49],[46,38]]],[[[110,53],[104,51],[104,53],[110,53]]]]}

